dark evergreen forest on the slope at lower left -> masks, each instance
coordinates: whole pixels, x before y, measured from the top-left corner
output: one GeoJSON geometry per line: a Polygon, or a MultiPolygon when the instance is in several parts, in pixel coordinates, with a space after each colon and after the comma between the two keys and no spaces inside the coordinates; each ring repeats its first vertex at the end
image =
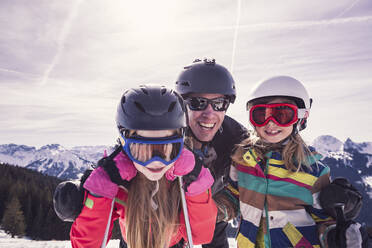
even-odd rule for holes
{"type": "MultiPolygon", "coordinates": [[[[12,237],[68,240],[72,222],[54,212],[53,193],[62,180],[40,172],[0,163],[0,226],[12,237]]],[[[112,239],[120,238],[115,221],[112,239]]]]}

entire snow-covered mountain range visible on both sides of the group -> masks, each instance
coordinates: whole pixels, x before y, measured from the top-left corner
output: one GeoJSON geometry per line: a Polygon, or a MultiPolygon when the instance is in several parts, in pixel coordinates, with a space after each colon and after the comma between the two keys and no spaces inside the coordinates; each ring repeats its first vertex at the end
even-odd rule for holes
{"type": "MultiPolygon", "coordinates": [[[[331,168],[331,176],[346,177],[364,196],[361,220],[372,225],[372,215],[365,210],[372,206],[372,142],[345,142],[324,135],[311,144],[323,155],[322,162],[331,168]],[[367,207],[368,206],[368,207],[367,207]]],[[[0,162],[18,165],[63,179],[76,179],[91,164],[96,163],[103,151],[113,147],[80,146],[71,149],[58,144],[39,149],[15,144],[0,145],[0,162]]]]}

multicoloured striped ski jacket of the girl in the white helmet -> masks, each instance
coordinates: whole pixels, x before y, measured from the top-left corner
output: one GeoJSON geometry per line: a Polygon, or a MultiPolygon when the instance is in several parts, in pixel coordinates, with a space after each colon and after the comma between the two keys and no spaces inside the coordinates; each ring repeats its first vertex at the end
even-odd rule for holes
{"type": "Polygon", "coordinates": [[[316,153],[308,158],[310,168],[303,166],[299,172],[287,170],[278,152],[266,157],[264,165],[248,150],[245,163],[231,167],[226,193],[239,199],[238,247],[320,247],[317,223],[330,218],[317,196],[329,184],[329,168],[316,153]]]}

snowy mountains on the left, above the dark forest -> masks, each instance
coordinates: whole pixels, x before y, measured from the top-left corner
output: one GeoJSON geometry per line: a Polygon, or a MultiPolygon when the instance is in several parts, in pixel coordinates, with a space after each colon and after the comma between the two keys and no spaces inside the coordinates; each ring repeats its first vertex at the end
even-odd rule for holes
{"type": "Polygon", "coordinates": [[[67,149],[51,144],[36,149],[25,145],[5,144],[0,145],[0,162],[59,178],[76,179],[102,157],[104,150],[110,152],[112,147],[79,146],[67,149]]]}

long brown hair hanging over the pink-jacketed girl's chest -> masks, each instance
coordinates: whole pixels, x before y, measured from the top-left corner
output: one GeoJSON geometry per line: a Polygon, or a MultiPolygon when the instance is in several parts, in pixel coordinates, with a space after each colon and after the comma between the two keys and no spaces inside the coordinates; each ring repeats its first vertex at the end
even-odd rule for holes
{"type": "Polygon", "coordinates": [[[129,247],[168,247],[172,234],[178,229],[179,212],[180,191],[177,181],[168,181],[164,176],[159,181],[150,181],[138,173],[128,190],[125,214],[129,247]],[[157,187],[159,189],[153,195],[157,187]],[[157,208],[152,207],[151,201],[157,208]]]}

